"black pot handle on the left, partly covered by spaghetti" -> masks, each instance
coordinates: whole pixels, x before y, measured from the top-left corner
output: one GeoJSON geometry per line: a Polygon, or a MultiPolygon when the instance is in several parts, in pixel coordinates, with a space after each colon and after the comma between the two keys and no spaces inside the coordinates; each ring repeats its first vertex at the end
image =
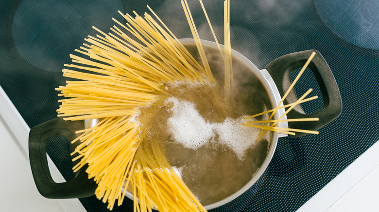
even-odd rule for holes
{"type": "MultiPolygon", "coordinates": [[[[84,121],[64,121],[56,118],[41,123],[30,130],[29,133],[29,158],[33,178],[39,193],[46,198],[65,199],[82,198],[94,195],[96,182],[88,179],[86,166],[75,173],[75,178],[68,182],[57,183],[52,180],[47,155],[46,141],[52,136],[64,135],[69,141],[75,139],[77,129],[84,128],[84,121]]],[[[71,152],[79,145],[80,141],[70,144],[71,152]]],[[[76,155],[74,155],[76,156],[76,155]]]]}

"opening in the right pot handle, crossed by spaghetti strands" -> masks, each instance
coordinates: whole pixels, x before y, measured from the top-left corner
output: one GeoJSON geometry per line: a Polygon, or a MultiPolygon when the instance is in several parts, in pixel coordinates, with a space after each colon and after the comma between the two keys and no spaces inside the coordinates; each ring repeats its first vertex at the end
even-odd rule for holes
{"type": "MultiPolygon", "coordinates": [[[[293,80],[299,74],[301,68],[302,67],[299,67],[290,73],[291,82],[293,82],[293,80]]],[[[303,111],[307,114],[314,113],[324,107],[324,99],[321,93],[321,89],[317,83],[317,79],[314,76],[312,70],[309,67],[307,67],[304,73],[300,76],[299,80],[296,82],[293,89],[296,92],[297,98],[300,98],[310,88],[313,89],[313,91],[310,92],[310,94],[306,98],[316,95],[318,96],[318,98],[300,104],[300,106],[303,108],[303,111]]]]}

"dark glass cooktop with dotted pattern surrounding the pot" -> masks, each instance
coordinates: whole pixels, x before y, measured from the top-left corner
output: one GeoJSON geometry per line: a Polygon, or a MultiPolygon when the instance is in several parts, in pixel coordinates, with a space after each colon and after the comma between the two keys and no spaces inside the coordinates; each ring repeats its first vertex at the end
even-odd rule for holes
{"type": "MultiPolygon", "coordinates": [[[[337,14],[330,15],[343,10],[339,7],[346,2],[354,3],[336,3],[333,10],[316,0],[231,1],[233,49],[258,68],[288,53],[318,50],[337,81],[343,110],[335,121],[319,130],[320,135],[280,138],[274,157],[259,181],[240,197],[212,212],[295,211],[379,140],[379,35],[372,33],[379,29],[377,21],[372,20],[378,15],[367,15],[363,6],[352,5],[357,8],[354,16],[362,17],[362,21],[350,23],[373,23],[354,28],[345,26],[348,23],[339,22],[335,18],[337,14]],[[366,29],[367,33],[361,32],[359,40],[351,37],[359,29],[366,29]],[[366,35],[369,39],[364,40],[366,35]]],[[[366,2],[365,5],[377,5],[376,0],[366,2]]],[[[111,27],[107,26],[111,17],[121,20],[117,10],[123,13],[136,10],[142,14],[147,11],[146,4],[177,37],[191,37],[180,0],[111,0],[107,4],[87,0],[0,2],[0,86],[29,127],[56,117],[59,105],[54,88],[64,85],[66,80],[60,69],[69,62],[69,54],[74,53],[83,39],[95,34],[92,25],[106,30],[111,27]]],[[[218,39],[224,43],[223,2],[206,0],[204,4],[218,39]]],[[[199,2],[189,0],[189,5],[200,37],[212,41],[199,2]]],[[[345,16],[349,18],[348,14],[345,16]]],[[[301,80],[301,85],[295,88],[297,93],[314,86],[314,80],[307,75],[301,80]]],[[[320,104],[309,103],[303,109],[311,113],[320,104]]],[[[54,159],[56,166],[69,179],[72,175],[66,172],[72,164],[58,162],[61,155],[54,152],[64,147],[53,144],[52,141],[48,146],[48,152],[58,158],[54,159]]],[[[87,211],[108,211],[106,204],[94,196],[80,201],[87,211]]],[[[133,211],[133,202],[125,198],[122,206],[113,211],[133,211]]]]}

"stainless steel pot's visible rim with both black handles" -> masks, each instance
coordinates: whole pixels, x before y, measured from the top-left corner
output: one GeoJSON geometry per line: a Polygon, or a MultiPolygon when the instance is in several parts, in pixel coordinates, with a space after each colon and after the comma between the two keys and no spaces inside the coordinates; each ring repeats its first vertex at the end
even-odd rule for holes
{"type": "MultiPolygon", "coordinates": [[[[197,53],[196,45],[193,39],[180,39],[181,43],[186,46],[195,59],[200,60],[197,53]]],[[[214,42],[202,40],[207,59],[212,67],[222,65],[222,61],[217,45],[214,42]]],[[[222,46],[223,48],[223,46],[222,46]]],[[[267,64],[264,69],[259,70],[256,65],[245,58],[237,51],[232,50],[234,76],[240,77],[242,80],[253,80],[251,84],[256,85],[255,91],[260,94],[261,100],[267,107],[275,107],[281,100],[281,96],[288,90],[291,85],[290,73],[302,67],[315,50],[307,50],[295,52],[282,57],[267,64]]],[[[342,100],[338,90],[334,76],[324,60],[322,55],[315,51],[316,55],[309,64],[310,70],[313,72],[320,90],[324,98],[324,106],[322,109],[306,114],[301,106],[296,106],[286,116],[288,119],[318,117],[320,121],[304,121],[304,122],[279,122],[279,127],[296,128],[304,130],[317,130],[336,119],[342,111],[342,100]]],[[[213,71],[214,69],[212,69],[213,71]]],[[[217,75],[217,74],[216,74],[217,75]]],[[[216,77],[216,76],[215,76],[216,77]]],[[[293,103],[297,100],[294,90],[283,101],[284,105],[293,103]]],[[[283,105],[282,103],[282,105],[283,105]]],[[[285,113],[284,109],[278,110],[275,119],[285,113]]],[[[284,117],[283,119],[287,119],[284,117]]],[[[86,120],[90,125],[96,124],[97,120],[86,120]]],[[[29,134],[29,156],[30,164],[33,172],[34,182],[40,194],[47,198],[81,198],[92,196],[95,192],[97,184],[88,179],[85,172],[86,167],[76,172],[75,178],[69,182],[56,183],[50,175],[47,157],[46,157],[46,141],[49,137],[65,135],[69,140],[75,139],[77,134],[75,131],[84,129],[85,121],[64,121],[62,118],[56,118],[51,121],[39,124],[33,127],[29,134]]],[[[305,136],[305,133],[296,133],[297,136],[305,136]]],[[[211,204],[205,205],[207,210],[224,205],[233,199],[239,197],[245,191],[258,181],[263,172],[268,167],[278,141],[278,137],[287,136],[286,134],[278,134],[271,132],[266,158],[260,165],[250,181],[244,184],[234,194],[211,204]]],[[[77,144],[70,144],[71,151],[75,149],[77,144]]],[[[75,165],[75,163],[74,163],[75,165]]],[[[133,195],[127,192],[127,197],[133,199],[133,195]]]]}

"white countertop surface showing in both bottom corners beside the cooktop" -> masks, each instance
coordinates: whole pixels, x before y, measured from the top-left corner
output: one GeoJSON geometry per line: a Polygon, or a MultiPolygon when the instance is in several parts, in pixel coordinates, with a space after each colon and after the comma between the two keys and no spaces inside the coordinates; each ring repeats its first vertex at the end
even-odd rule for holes
{"type": "MultiPolygon", "coordinates": [[[[78,199],[47,199],[34,184],[28,160],[29,127],[0,87],[0,211],[85,212],[78,199]]],[[[49,160],[52,178],[63,177],[49,160]]],[[[378,212],[379,142],[310,198],[298,212],[378,212]]]]}

